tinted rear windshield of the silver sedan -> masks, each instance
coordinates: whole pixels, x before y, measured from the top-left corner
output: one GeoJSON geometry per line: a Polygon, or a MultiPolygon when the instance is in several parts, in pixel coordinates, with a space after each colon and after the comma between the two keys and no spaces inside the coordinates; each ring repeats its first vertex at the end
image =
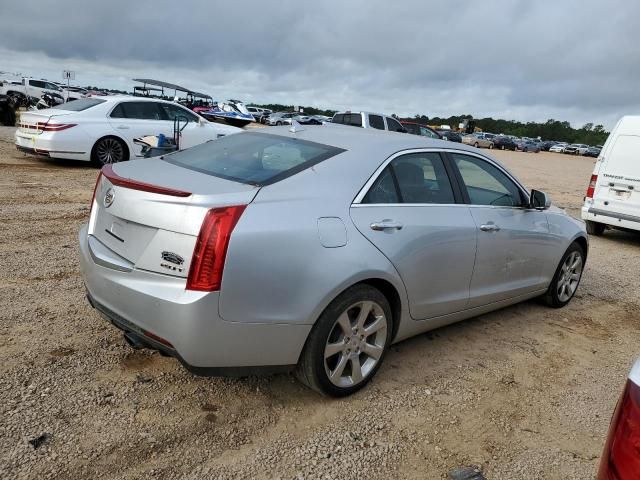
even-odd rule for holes
{"type": "Polygon", "coordinates": [[[269,185],[301,172],[343,149],[267,133],[236,133],[163,160],[207,175],[251,185],[269,185]]]}

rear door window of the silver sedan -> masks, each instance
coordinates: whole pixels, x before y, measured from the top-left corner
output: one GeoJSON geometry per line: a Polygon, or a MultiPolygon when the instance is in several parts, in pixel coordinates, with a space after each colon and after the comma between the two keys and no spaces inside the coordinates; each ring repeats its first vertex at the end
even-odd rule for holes
{"type": "Polygon", "coordinates": [[[436,152],[425,152],[395,158],[363,203],[452,204],[455,198],[442,158],[436,152]]]}

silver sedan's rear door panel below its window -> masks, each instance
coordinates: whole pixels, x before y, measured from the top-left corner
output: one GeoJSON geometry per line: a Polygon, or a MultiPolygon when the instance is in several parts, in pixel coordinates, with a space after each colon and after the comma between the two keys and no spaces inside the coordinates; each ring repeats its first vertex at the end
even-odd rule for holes
{"type": "Polygon", "coordinates": [[[363,205],[351,208],[351,218],[398,270],[413,318],[466,308],[476,254],[476,226],[468,206],[363,205]],[[401,229],[371,228],[382,220],[401,229]]]}

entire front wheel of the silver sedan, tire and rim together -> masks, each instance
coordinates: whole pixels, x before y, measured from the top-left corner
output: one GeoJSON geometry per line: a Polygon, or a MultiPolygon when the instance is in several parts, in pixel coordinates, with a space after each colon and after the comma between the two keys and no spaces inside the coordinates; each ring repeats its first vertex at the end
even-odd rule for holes
{"type": "Polygon", "coordinates": [[[572,243],[556,269],[547,293],[542,301],[552,308],[561,308],[573,298],[580,280],[585,263],[585,252],[576,242],[572,243]]]}

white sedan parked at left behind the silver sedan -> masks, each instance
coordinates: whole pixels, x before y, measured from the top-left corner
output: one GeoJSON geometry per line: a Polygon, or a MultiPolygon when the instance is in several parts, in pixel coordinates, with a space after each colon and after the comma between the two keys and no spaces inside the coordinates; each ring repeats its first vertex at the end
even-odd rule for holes
{"type": "Polygon", "coordinates": [[[173,137],[173,120],[188,123],[180,149],[242,131],[210,123],[174,102],[130,96],[90,97],[20,115],[15,140],[18,150],[50,158],[91,161],[97,166],[141,156],[134,138],[173,137]]]}

